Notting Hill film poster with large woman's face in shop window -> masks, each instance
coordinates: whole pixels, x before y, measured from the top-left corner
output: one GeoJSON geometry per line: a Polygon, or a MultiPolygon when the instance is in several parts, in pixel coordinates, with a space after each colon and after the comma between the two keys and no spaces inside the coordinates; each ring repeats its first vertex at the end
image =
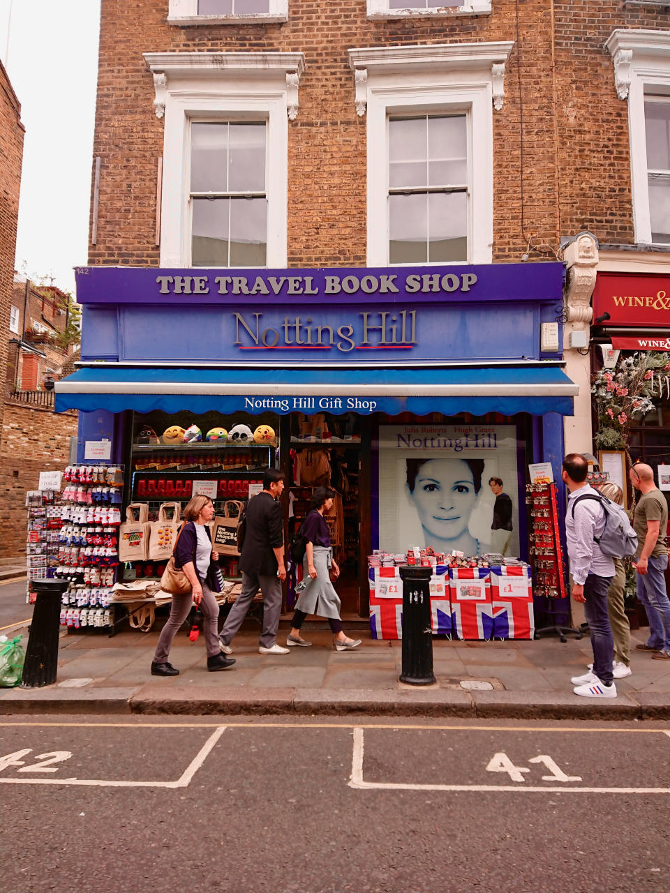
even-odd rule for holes
{"type": "Polygon", "coordinates": [[[519,555],[514,425],[382,425],[379,544],[519,555]]]}

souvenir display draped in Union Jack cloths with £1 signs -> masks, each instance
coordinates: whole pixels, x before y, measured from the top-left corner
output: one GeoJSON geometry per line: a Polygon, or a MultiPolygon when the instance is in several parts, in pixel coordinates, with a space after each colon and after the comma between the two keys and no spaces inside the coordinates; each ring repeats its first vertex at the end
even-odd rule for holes
{"type": "Polygon", "coordinates": [[[532,638],[535,631],[528,565],[503,555],[405,554],[368,557],[373,638],[402,638],[401,565],[431,567],[433,635],[449,638],[532,638]]]}

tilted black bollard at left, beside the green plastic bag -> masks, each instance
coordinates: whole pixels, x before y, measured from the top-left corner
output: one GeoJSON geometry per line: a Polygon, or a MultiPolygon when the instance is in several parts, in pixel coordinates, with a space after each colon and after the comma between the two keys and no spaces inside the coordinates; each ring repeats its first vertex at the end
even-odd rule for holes
{"type": "Polygon", "coordinates": [[[32,580],[37,600],[30,621],[26,663],[21,689],[53,685],[58,667],[58,636],[61,630],[61,596],[67,580],[32,580]]]}

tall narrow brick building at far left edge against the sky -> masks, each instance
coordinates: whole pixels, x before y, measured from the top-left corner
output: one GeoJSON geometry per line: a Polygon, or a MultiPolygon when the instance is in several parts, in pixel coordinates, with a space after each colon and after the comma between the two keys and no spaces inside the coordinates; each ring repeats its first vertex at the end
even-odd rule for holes
{"type": "Polygon", "coordinates": [[[9,338],[5,333],[9,332],[9,308],[12,304],[23,133],[21,104],[0,63],[0,443],[9,350],[9,338]]]}

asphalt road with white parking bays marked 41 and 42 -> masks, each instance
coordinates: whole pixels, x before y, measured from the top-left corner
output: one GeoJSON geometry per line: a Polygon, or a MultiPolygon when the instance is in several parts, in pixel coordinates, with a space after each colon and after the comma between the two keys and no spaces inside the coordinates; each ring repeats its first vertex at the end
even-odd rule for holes
{"type": "Polygon", "coordinates": [[[4,893],[667,893],[660,723],[0,722],[4,893]]]}

